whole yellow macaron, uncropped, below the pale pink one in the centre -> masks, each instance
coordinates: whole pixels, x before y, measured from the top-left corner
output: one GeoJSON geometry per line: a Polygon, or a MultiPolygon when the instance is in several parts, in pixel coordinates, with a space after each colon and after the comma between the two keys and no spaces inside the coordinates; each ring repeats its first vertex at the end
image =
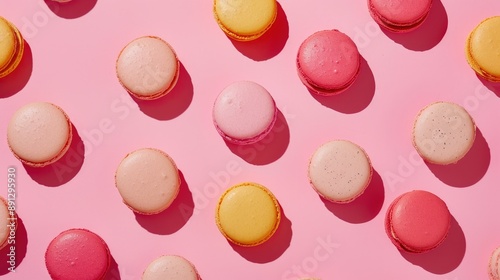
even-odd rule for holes
{"type": "Polygon", "coordinates": [[[221,195],[215,220],[220,232],[232,243],[256,246],[276,232],[281,209],[266,187],[245,182],[230,187],[221,195]]]}

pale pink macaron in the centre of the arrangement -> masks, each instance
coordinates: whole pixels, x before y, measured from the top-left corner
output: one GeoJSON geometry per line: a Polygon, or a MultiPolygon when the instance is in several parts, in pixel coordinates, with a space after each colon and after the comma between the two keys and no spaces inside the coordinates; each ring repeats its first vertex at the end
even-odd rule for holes
{"type": "Polygon", "coordinates": [[[246,145],[262,140],[273,128],[278,109],[261,85],[239,81],[222,90],[212,117],[217,132],[228,142],[246,145]]]}

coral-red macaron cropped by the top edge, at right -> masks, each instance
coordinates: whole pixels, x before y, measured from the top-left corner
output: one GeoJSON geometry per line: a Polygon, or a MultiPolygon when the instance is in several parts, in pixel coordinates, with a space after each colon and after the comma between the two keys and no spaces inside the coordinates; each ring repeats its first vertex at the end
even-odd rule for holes
{"type": "Polygon", "coordinates": [[[380,26],[392,32],[409,32],[425,21],[432,0],[368,0],[368,10],[380,26]]]}

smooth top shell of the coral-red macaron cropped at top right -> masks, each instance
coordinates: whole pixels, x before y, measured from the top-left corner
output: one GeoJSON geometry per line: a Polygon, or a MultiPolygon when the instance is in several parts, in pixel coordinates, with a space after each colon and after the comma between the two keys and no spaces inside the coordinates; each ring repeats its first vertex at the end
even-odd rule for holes
{"type": "MultiPolygon", "coordinates": [[[[418,22],[429,13],[432,0],[368,0],[372,12],[393,24],[418,22]]],[[[439,1],[439,0],[437,0],[439,1]]]]}

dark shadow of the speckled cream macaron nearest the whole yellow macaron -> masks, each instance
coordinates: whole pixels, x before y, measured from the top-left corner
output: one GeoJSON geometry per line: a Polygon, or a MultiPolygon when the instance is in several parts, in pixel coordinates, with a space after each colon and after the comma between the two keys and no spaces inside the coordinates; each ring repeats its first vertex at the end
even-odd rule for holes
{"type": "Polygon", "coordinates": [[[335,216],[351,223],[365,223],[375,218],[384,204],[384,182],[377,171],[373,170],[372,180],[365,192],[349,203],[335,203],[321,197],[325,207],[335,216]]]}

